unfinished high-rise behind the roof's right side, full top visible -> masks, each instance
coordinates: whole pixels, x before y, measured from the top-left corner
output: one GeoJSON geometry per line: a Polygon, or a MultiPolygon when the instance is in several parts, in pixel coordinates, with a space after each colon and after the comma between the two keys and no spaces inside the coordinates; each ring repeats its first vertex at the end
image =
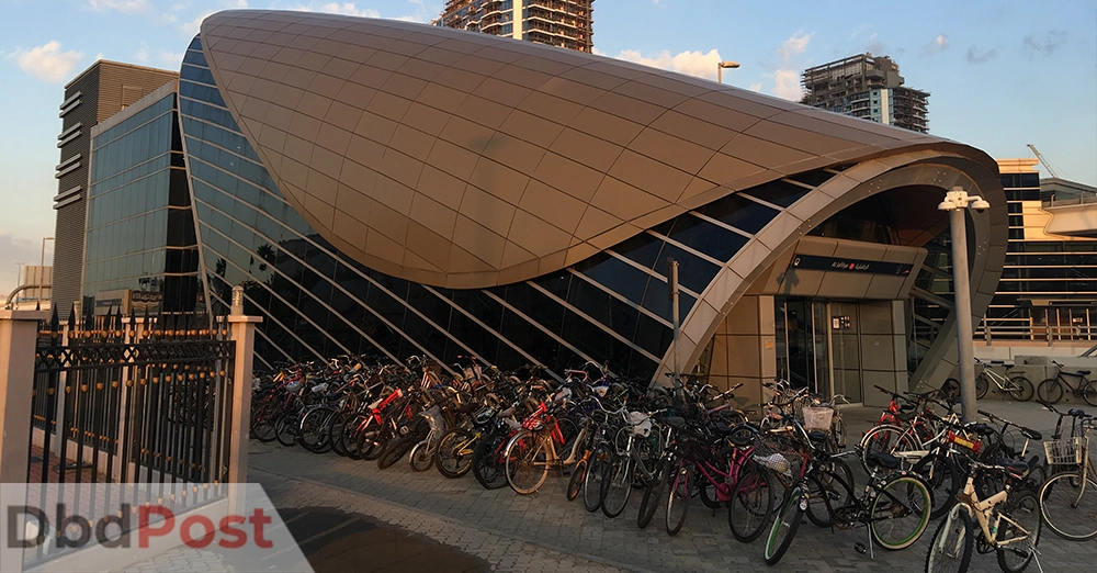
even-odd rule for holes
{"type": "Polygon", "coordinates": [[[802,85],[801,103],[929,133],[929,92],[903,87],[887,56],[858,54],[807,68],[802,85]]]}

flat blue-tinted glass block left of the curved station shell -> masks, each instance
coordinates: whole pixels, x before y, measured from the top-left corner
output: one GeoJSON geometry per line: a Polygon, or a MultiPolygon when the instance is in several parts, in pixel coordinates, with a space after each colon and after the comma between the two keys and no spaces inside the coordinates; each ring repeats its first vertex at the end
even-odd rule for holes
{"type": "Polygon", "coordinates": [[[200,301],[197,247],[176,94],[92,141],[83,295],[162,293],[163,311],[200,301]]]}

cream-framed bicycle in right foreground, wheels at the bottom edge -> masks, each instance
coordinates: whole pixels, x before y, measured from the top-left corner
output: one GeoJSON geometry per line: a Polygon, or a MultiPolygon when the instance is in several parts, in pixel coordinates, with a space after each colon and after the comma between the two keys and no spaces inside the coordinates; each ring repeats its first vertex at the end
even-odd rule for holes
{"type": "Polygon", "coordinates": [[[968,571],[973,548],[980,553],[995,551],[998,566],[1006,573],[1020,573],[1033,560],[1042,571],[1036,549],[1040,541],[1039,502],[1031,491],[1013,488],[1025,479],[1028,465],[1024,462],[989,465],[974,459],[970,461],[973,471],[968,475],[963,492],[957,496],[957,505],[938,526],[929,544],[926,573],[968,571]],[[980,473],[1005,473],[1004,488],[980,499],[975,487],[980,473]],[[982,536],[972,532],[973,517],[982,536]]]}

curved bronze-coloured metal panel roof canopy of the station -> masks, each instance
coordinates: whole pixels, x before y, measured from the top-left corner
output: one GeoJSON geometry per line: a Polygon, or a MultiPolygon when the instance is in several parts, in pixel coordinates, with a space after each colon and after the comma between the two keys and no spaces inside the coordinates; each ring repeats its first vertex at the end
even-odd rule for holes
{"type": "Polygon", "coordinates": [[[385,273],[483,288],[562,269],[737,190],[982,151],[713,81],[407,22],[227,11],[225,103],[286,200],[385,273]]]}

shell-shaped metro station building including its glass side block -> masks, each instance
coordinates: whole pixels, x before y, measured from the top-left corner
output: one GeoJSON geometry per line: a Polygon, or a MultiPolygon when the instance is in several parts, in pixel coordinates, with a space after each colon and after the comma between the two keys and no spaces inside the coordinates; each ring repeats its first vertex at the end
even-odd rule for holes
{"type": "Polygon", "coordinates": [[[663,381],[677,349],[749,401],[780,375],[878,403],[955,362],[948,190],[992,205],[968,215],[975,317],[1006,254],[979,149],[406,22],[214,14],[178,85],[92,137],[84,307],[159,289],[217,313],[242,284],[258,367],[475,355],[663,381]],[[162,256],[125,251],[148,236],[162,256]]]}

